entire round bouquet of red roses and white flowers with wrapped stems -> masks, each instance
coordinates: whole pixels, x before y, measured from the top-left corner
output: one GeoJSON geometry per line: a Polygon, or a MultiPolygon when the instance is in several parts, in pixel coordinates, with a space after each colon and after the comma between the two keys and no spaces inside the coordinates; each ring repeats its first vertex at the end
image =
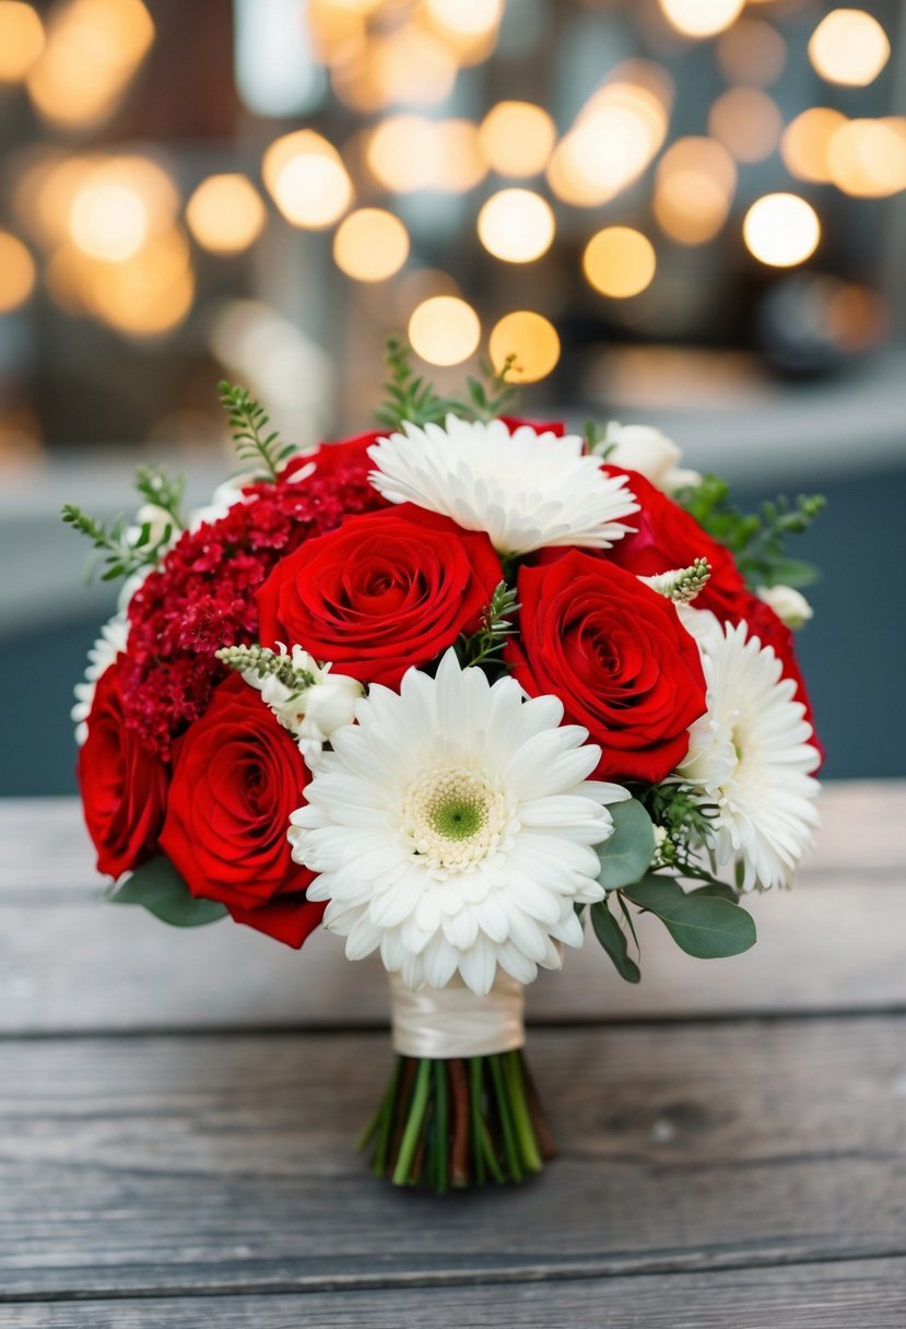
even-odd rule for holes
{"type": "Polygon", "coordinates": [[[640,977],[634,913],[703,958],[755,942],[821,754],[788,534],[642,427],[503,412],[389,352],[380,428],[299,452],[221,385],[242,473],[182,513],[138,473],[90,537],[118,613],[77,687],[85,820],[112,898],[375,952],[397,1053],[363,1144],[399,1184],[519,1181],[553,1151],[522,994],[594,937],[640,977]]]}

